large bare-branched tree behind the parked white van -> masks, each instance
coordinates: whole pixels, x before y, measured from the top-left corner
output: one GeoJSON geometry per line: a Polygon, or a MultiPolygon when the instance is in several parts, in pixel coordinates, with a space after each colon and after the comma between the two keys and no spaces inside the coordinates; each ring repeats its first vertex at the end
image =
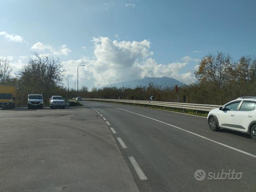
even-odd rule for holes
{"type": "Polygon", "coordinates": [[[33,53],[20,71],[20,84],[27,94],[44,94],[45,101],[53,93],[62,93],[65,73],[59,58],[33,53]]]}

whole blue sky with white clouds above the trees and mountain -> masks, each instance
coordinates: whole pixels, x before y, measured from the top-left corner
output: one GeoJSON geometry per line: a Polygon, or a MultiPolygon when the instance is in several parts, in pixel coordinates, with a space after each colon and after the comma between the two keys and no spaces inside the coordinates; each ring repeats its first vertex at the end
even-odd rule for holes
{"type": "Polygon", "coordinates": [[[145,76],[189,83],[208,53],[256,55],[255,7],[253,0],[2,1],[0,57],[10,58],[14,74],[33,51],[59,57],[71,82],[85,64],[87,87],[145,76]]]}

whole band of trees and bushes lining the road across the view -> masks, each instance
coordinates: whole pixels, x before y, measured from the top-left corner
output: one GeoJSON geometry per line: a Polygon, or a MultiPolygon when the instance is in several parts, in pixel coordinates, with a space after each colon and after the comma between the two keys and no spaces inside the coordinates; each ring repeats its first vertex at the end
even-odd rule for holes
{"type": "MultiPolygon", "coordinates": [[[[54,57],[33,53],[19,72],[12,77],[12,68],[8,59],[0,59],[0,85],[17,87],[17,103],[26,104],[28,94],[43,94],[45,103],[52,95],[64,98],[78,96],[76,90],[68,93],[63,86],[66,70],[60,60],[54,57]]],[[[234,61],[230,55],[217,52],[202,58],[197,71],[196,83],[181,85],[178,92],[175,87],[154,85],[138,86],[135,89],[127,87],[93,87],[91,91],[83,86],[79,96],[84,98],[115,98],[154,101],[186,102],[199,104],[223,105],[239,96],[256,96],[256,57],[242,56],[234,61]]],[[[159,107],[158,107],[159,108],[159,107]]],[[[183,112],[183,110],[181,110],[183,112]]],[[[190,113],[189,110],[187,110],[190,113]]],[[[191,112],[194,113],[194,112],[191,112]]]]}

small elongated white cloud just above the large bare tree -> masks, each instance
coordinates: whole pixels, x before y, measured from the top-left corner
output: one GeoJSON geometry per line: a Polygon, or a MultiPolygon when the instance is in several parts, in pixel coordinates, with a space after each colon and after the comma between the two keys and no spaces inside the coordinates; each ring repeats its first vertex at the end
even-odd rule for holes
{"type": "Polygon", "coordinates": [[[35,51],[45,51],[44,54],[50,54],[50,55],[68,55],[68,53],[71,52],[71,50],[64,44],[59,47],[59,50],[54,49],[52,46],[44,45],[41,42],[35,43],[32,47],[32,50],[35,51]]]}

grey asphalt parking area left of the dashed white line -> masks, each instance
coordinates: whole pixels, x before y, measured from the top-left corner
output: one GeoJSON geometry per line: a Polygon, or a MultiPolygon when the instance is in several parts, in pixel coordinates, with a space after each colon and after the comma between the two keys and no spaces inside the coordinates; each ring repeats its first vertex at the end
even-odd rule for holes
{"type": "Polygon", "coordinates": [[[0,192],[138,192],[103,119],[87,107],[0,110],[0,192]]]}

